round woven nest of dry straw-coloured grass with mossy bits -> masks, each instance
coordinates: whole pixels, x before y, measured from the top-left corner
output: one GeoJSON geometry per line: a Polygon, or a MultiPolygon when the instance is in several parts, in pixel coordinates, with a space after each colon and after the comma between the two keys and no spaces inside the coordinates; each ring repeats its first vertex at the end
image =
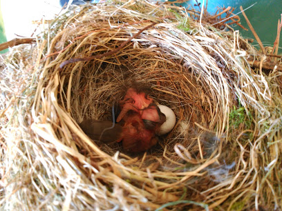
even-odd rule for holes
{"type": "Polygon", "coordinates": [[[281,85],[259,52],[185,8],[81,6],[1,65],[1,208],[281,208],[281,85]],[[140,154],[89,139],[132,83],[177,118],[140,154]]]}

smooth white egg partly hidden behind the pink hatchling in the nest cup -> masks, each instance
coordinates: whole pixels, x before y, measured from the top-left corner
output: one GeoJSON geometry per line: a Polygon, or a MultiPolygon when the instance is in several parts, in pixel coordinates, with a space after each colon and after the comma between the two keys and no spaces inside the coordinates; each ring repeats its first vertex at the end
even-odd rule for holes
{"type": "Polygon", "coordinates": [[[170,132],[174,125],[176,125],[176,114],[174,114],[173,110],[167,106],[158,105],[158,108],[160,108],[160,112],[166,117],[164,123],[160,125],[160,132],[158,133],[162,135],[170,132]]]}

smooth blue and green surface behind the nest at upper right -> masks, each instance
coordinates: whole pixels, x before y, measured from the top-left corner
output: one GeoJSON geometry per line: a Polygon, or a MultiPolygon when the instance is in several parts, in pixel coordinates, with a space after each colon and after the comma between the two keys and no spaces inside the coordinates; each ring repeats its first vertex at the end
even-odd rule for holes
{"type": "MultiPolygon", "coordinates": [[[[203,3],[203,0],[198,0],[198,2],[203,3]]],[[[187,1],[187,3],[183,3],[182,6],[191,5],[194,7],[195,3],[196,3],[195,0],[191,0],[191,1],[187,1]]],[[[225,6],[225,8],[227,8],[228,6],[236,8],[234,10],[234,14],[241,11],[240,6],[243,6],[243,9],[248,8],[249,6],[252,6],[252,8],[245,10],[245,14],[247,15],[247,18],[252,23],[252,26],[254,30],[256,31],[256,34],[259,35],[259,38],[263,42],[263,45],[264,46],[273,46],[273,43],[276,39],[276,34],[277,34],[277,23],[278,23],[278,20],[281,19],[281,13],[282,13],[282,1],[281,0],[259,0],[259,1],[212,0],[212,1],[208,1],[207,11],[210,12],[211,14],[214,14],[218,7],[223,7],[223,6],[225,6]],[[256,4],[252,6],[252,4],[254,3],[256,4]]],[[[252,34],[250,28],[247,26],[247,22],[245,21],[243,14],[238,14],[238,16],[241,19],[241,24],[245,28],[247,28],[248,31],[245,31],[240,27],[235,27],[234,29],[240,30],[243,37],[254,39],[254,35],[252,34]]],[[[258,46],[256,41],[254,41],[254,45],[258,46]]],[[[279,52],[281,52],[282,35],[281,35],[281,39],[279,42],[279,46],[280,46],[279,52]]]]}

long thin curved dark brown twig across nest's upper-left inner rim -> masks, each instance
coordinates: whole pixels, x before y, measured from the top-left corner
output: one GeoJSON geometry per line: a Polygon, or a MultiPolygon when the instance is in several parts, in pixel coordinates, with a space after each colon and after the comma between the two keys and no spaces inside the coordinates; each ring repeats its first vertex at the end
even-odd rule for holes
{"type": "Polygon", "coordinates": [[[146,26],[145,28],[142,28],[142,30],[139,30],[139,32],[137,32],[136,34],[133,35],[133,37],[129,37],[128,40],[124,41],[120,47],[115,48],[115,50],[111,50],[109,52],[105,52],[104,54],[99,54],[93,57],[83,57],[83,58],[74,58],[74,59],[70,59],[70,60],[66,60],[64,62],[61,63],[61,65],[59,66],[59,68],[63,68],[65,65],[67,65],[68,63],[75,63],[77,61],[91,61],[93,59],[100,59],[102,57],[106,57],[109,56],[111,54],[115,54],[116,52],[118,52],[119,50],[121,50],[127,43],[129,43],[132,39],[134,39],[135,37],[138,37],[139,34],[141,34],[144,30],[147,30],[149,28],[151,28],[152,26],[154,26],[156,23],[152,23],[149,26],[146,26]]]}

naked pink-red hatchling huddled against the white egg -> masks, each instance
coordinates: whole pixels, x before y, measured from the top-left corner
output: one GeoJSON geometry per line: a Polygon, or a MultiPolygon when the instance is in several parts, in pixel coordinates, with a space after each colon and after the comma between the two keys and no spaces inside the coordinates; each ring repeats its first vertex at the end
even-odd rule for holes
{"type": "Polygon", "coordinates": [[[123,121],[122,135],[118,142],[122,141],[122,147],[130,152],[142,152],[158,143],[156,132],[165,121],[162,114],[153,103],[153,99],[144,92],[138,93],[134,88],[127,90],[124,99],[120,101],[121,112],[117,121],[123,121]],[[153,122],[147,127],[144,121],[153,122]]]}

